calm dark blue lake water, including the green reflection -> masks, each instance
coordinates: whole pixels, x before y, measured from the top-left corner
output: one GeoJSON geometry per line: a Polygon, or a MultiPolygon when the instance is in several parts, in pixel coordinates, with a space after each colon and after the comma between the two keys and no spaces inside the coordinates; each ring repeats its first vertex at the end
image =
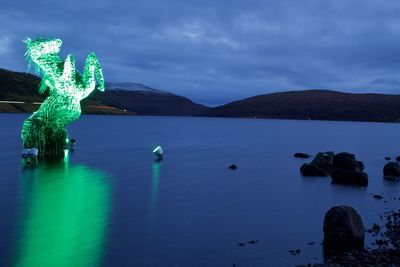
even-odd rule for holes
{"type": "Polygon", "coordinates": [[[1,266],[321,262],[331,206],[355,207],[367,227],[400,206],[390,199],[400,184],[382,179],[383,158],[400,154],[398,124],[82,116],[69,128],[77,146],[65,162],[22,169],[26,117],[0,115],[1,266]],[[161,163],[151,154],[157,145],[161,163]],[[305,160],[294,152],[328,150],[355,153],[369,186],[300,176],[305,160]],[[259,243],[237,245],[249,240],[259,243]]]}

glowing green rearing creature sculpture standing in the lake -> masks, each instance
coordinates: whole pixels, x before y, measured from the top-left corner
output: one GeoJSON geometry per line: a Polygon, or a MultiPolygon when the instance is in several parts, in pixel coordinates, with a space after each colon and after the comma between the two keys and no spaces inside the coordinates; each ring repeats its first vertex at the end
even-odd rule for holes
{"type": "Polygon", "coordinates": [[[49,96],[25,120],[22,127],[24,148],[38,148],[40,157],[62,157],[67,145],[68,135],[65,127],[77,120],[81,114],[80,101],[96,88],[104,91],[104,78],[97,56],[90,53],[86,59],[83,74],[75,69],[72,54],[63,61],[58,53],[60,39],[24,41],[27,46],[27,59],[42,74],[39,92],[49,90],[49,96]]]}

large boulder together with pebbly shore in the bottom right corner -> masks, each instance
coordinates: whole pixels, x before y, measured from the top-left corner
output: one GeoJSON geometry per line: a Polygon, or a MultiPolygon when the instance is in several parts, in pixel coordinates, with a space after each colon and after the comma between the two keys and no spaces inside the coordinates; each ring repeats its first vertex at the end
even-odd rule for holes
{"type": "Polygon", "coordinates": [[[364,229],[360,215],[352,207],[337,206],[331,208],[324,219],[324,263],[298,266],[340,267],[340,266],[400,266],[400,210],[384,214],[384,227],[373,224],[364,229]],[[386,230],[383,230],[386,229],[386,230]],[[376,249],[364,248],[364,232],[376,239],[376,249]]]}

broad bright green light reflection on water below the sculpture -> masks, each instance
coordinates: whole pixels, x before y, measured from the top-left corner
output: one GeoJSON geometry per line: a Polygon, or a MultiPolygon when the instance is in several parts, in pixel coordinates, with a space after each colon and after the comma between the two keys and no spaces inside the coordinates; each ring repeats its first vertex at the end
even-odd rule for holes
{"type": "Polygon", "coordinates": [[[85,166],[22,173],[17,266],[97,266],[108,220],[107,176],[85,166]]]}

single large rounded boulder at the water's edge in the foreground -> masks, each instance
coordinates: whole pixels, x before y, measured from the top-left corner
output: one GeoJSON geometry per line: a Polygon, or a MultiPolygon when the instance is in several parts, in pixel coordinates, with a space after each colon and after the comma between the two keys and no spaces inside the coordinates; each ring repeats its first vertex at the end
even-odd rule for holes
{"type": "Polygon", "coordinates": [[[324,219],[324,250],[344,251],[364,247],[364,225],[352,207],[332,207],[324,219]]]}

